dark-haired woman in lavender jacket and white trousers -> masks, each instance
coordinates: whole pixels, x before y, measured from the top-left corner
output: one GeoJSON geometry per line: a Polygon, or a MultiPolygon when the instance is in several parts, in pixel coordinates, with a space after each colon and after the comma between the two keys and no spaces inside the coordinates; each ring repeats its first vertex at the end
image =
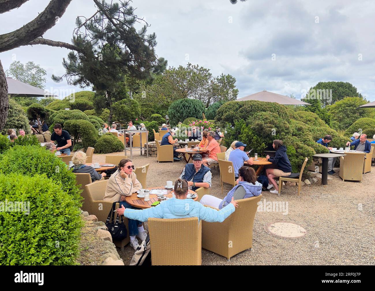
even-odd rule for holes
{"type": "Polygon", "coordinates": [[[212,195],[204,195],[199,201],[203,205],[222,209],[228,203],[234,200],[250,198],[259,196],[262,193],[262,184],[257,181],[257,175],[253,168],[242,166],[238,170],[237,186],[226,194],[225,198],[221,200],[212,195]]]}

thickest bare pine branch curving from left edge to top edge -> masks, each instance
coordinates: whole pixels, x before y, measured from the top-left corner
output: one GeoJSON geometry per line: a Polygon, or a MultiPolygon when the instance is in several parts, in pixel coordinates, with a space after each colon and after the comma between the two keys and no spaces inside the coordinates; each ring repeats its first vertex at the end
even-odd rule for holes
{"type": "Polygon", "coordinates": [[[35,19],[18,30],[0,35],[0,52],[26,45],[42,36],[54,26],[64,14],[72,0],[51,0],[48,6],[35,19]]]}

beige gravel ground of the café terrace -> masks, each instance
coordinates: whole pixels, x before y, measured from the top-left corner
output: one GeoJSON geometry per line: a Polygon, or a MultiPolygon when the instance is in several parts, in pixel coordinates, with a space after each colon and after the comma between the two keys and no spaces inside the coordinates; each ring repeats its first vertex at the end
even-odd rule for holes
{"type": "MultiPolygon", "coordinates": [[[[123,155],[123,152],[111,155],[123,155]]],[[[148,187],[163,186],[166,180],[175,180],[185,163],[157,163],[156,157],[133,155],[133,164],[150,163],[148,187]]],[[[94,154],[93,162],[105,162],[105,154],[94,154]]],[[[328,180],[297,187],[283,187],[280,197],[263,192],[267,201],[288,202],[288,214],[258,212],[254,223],[253,251],[246,250],[231,258],[202,250],[203,265],[375,265],[375,167],[363,175],[362,183],[343,182],[338,173],[328,180]],[[264,227],[276,221],[288,221],[306,229],[302,238],[286,239],[270,235],[264,227]]],[[[213,170],[211,194],[223,198],[231,186],[224,184],[221,194],[220,176],[213,170]]],[[[263,200],[262,199],[262,200],[263,200]]],[[[124,263],[130,263],[134,251],[129,246],[119,250],[124,263]]]]}

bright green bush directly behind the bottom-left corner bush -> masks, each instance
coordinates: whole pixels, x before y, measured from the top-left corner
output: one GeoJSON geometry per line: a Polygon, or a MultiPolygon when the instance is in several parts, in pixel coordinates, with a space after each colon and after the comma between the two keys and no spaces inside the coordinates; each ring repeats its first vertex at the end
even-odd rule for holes
{"type": "MultiPolygon", "coordinates": [[[[80,190],[75,184],[75,175],[66,164],[45,147],[14,146],[0,156],[0,172],[19,173],[27,176],[45,174],[58,184],[63,192],[71,196],[77,207],[81,207],[80,190]]],[[[53,193],[53,192],[51,192],[53,193]]]]}

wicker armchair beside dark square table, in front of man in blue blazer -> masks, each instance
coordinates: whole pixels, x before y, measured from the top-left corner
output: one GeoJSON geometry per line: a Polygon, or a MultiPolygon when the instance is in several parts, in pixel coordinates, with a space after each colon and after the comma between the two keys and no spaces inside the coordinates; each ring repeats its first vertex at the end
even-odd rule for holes
{"type": "Polygon", "coordinates": [[[350,181],[361,181],[363,177],[363,160],[365,153],[345,153],[340,158],[340,178],[350,181]]]}

